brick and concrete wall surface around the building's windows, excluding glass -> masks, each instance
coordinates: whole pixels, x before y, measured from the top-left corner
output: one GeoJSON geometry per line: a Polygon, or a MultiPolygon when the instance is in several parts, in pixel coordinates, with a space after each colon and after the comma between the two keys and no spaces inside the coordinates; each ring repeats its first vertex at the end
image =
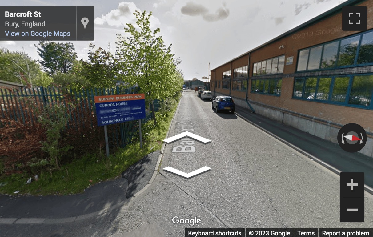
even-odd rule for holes
{"type": "MultiPolygon", "coordinates": [[[[367,29],[373,29],[373,0],[367,0],[360,6],[367,6],[367,29]]],[[[359,6],[358,5],[358,6],[359,6]]],[[[344,69],[330,69],[324,71],[314,71],[314,72],[297,72],[297,61],[298,52],[300,49],[315,46],[317,44],[326,43],[328,41],[336,40],[339,38],[347,37],[359,33],[358,31],[342,31],[342,12],[324,18],[319,22],[309,25],[298,32],[284,37],[278,41],[267,44],[253,52],[250,52],[250,63],[249,63],[249,83],[248,83],[248,93],[247,100],[253,105],[254,109],[257,108],[257,113],[263,114],[270,118],[280,119],[281,122],[292,125],[293,127],[308,131],[313,135],[317,135],[324,139],[332,140],[336,142],[336,132],[341,126],[354,122],[360,124],[367,132],[370,141],[373,137],[373,110],[361,109],[357,107],[333,105],[328,103],[321,103],[309,100],[298,100],[292,99],[293,88],[294,88],[294,77],[298,76],[313,76],[313,75],[342,75],[342,74],[357,74],[357,73],[373,73],[373,66],[357,66],[353,68],[344,69]],[[279,49],[279,46],[285,46],[279,49]],[[259,77],[253,77],[253,64],[256,62],[261,62],[273,57],[285,55],[285,65],[283,74],[280,75],[265,75],[259,77]],[[288,57],[294,57],[293,63],[291,65],[286,65],[286,59],[288,57]],[[281,95],[266,95],[251,93],[251,79],[252,78],[282,78],[281,95]],[[297,119],[294,119],[294,118],[297,119]],[[283,120],[285,118],[285,121],[283,120]],[[289,120],[290,119],[290,120],[289,120]],[[322,130],[329,132],[316,132],[313,128],[302,128],[301,124],[305,124],[305,121],[311,121],[310,126],[326,126],[322,130]],[[291,121],[291,122],[290,122],[291,121]],[[314,124],[316,123],[316,124],[314,124]],[[313,131],[313,132],[312,132],[313,131]]],[[[241,106],[247,107],[245,101],[246,91],[234,91],[225,90],[220,88],[215,88],[214,80],[222,81],[222,73],[231,69],[231,76],[233,82],[233,69],[240,66],[245,66],[248,64],[248,54],[239,57],[231,62],[226,63],[223,66],[211,71],[211,91],[215,91],[216,95],[224,94],[231,95],[237,99],[241,99],[241,106]]],[[[230,85],[232,88],[232,83],[230,85]]],[[[373,103],[373,102],[371,102],[373,103]]],[[[240,105],[239,105],[240,106],[240,105]]],[[[256,109],[256,110],[257,110],[256,109]]],[[[366,151],[364,147],[363,153],[369,156],[373,156],[372,151],[366,151]]]]}

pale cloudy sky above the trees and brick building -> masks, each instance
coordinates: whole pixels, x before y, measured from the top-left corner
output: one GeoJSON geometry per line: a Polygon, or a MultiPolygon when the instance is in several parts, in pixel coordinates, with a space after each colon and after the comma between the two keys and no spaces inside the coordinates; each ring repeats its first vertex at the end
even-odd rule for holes
{"type": "MultiPolygon", "coordinates": [[[[185,80],[209,76],[210,70],[332,9],[345,0],[12,0],[3,6],[94,6],[94,41],[70,41],[79,59],[88,45],[115,53],[116,34],[135,24],[135,10],[152,12],[150,24],[172,44],[185,80]]],[[[64,42],[64,41],[61,41],[64,42]]],[[[0,47],[25,51],[39,60],[38,41],[0,41],[0,47]]]]}

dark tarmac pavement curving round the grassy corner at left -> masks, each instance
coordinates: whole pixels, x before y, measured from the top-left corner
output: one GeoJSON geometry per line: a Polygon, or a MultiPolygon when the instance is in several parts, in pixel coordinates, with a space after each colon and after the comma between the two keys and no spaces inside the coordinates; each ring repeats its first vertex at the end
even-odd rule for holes
{"type": "MultiPolygon", "coordinates": [[[[0,224],[65,223],[101,215],[125,205],[154,173],[160,151],[142,158],[121,177],[69,196],[0,196],[0,224]]],[[[1,231],[0,231],[1,233],[1,231]]]]}

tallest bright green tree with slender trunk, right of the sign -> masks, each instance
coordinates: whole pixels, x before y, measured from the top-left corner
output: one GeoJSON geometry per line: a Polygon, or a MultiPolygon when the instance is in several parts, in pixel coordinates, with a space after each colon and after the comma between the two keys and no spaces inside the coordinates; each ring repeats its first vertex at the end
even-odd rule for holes
{"type": "MultiPolygon", "coordinates": [[[[126,24],[124,30],[130,36],[118,34],[116,55],[122,69],[119,75],[126,78],[130,85],[137,84],[141,92],[147,94],[151,110],[155,114],[154,100],[166,99],[181,90],[181,76],[176,69],[180,61],[171,53],[172,45],[166,47],[162,36],[157,36],[160,29],[150,29],[151,12],[147,14],[146,11],[136,11],[134,15],[138,28],[126,24]]],[[[155,116],[154,124],[157,124],[155,116]]]]}

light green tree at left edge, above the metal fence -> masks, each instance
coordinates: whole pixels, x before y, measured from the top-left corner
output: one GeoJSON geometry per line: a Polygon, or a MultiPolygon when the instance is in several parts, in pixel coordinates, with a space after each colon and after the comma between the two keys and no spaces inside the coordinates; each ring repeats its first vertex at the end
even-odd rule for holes
{"type": "Polygon", "coordinates": [[[0,80],[35,85],[40,75],[40,65],[27,54],[0,49],[0,80]]]}

